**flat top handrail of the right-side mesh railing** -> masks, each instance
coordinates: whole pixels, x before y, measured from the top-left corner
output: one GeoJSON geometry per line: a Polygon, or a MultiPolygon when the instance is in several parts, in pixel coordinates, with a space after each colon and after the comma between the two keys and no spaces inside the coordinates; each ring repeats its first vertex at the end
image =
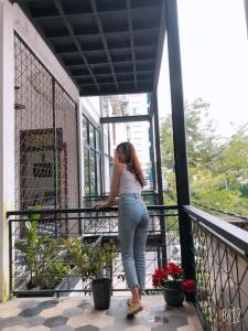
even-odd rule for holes
{"type": "Polygon", "coordinates": [[[220,235],[225,242],[235,245],[237,248],[244,250],[248,256],[248,232],[229,224],[216,216],[209,215],[192,205],[184,205],[182,210],[188,215],[196,218],[196,222],[201,222],[208,227],[213,233],[215,232],[218,236],[220,235]]]}

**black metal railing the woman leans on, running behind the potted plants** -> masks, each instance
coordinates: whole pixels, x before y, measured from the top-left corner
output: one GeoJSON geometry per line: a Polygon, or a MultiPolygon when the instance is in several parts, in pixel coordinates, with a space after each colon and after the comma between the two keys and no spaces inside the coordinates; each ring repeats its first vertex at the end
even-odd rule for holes
{"type": "MultiPolygon", "coordinates": [[[[181,263],[177,206],[148,206],[150,227],[145,252],[145,289],[152,287],[152,273],[162,264],[162,252],[181,263]],[[161,218],[162,217],[162,218],[161,218]],[[161,231],[161,220],[165,231],[161,231]]],[[[43,210],[8,212],[10,241],[10,290],[12,295],[60,295],[90,291],[62,245],[66,238],[84,243],[116,242],[118,248],[118,209],[43,210]],[[80,228],[80,233],[78,232],[80,228]],[[33,231],[32,231],[33,229],[33,231]],[[32,248],[32,249],[31,249],[32,248]],[[56,274],[56,270],[58,273],[56,274]],[[35,281],[32,281],[35,279],[35,281]],[[47,279],[48,281],[47,285],[47,279]],[[39,284],[40,281],[40,284],[39,284]]],[[[111,268],[112,290],[127,290],[120,253],[111,268]]]]}

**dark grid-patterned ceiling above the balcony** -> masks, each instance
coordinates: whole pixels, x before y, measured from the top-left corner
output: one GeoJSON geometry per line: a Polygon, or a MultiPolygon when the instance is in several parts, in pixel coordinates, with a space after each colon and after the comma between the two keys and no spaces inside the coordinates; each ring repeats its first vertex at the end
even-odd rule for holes
{"type": "Polygon", "coordinates": [[[152,92],[164,0],[18,0],[82,96],[152,92]]]}

